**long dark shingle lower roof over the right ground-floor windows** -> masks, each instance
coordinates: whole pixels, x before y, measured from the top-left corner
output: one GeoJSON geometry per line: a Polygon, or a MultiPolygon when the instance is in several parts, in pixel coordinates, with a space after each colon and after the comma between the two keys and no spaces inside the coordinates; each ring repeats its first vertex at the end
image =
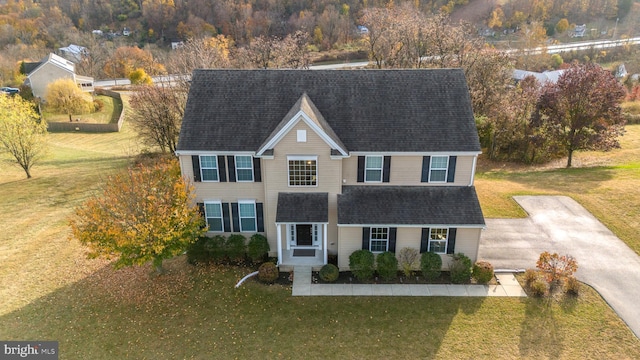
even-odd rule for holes
{"type": "Polygon", "coordinates": [[[485,223],[473,186],[343,186],[338,224],[485,223]]]}

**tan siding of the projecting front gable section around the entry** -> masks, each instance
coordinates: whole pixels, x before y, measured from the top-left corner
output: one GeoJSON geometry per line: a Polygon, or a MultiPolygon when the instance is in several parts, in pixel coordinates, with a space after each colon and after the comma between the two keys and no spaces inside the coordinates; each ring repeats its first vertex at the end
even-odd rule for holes
{"type": "MultiPolygon", "coordinates": [[[[272,251],[276,251],[276,211],[280,192],[326,192],[329,193],[329,225],[327,243],[330,254],[338,250],[338,197],[342,191],[342,160],[330,158],[331,147],[306,123],[298,122],[274,147],[273,159],[262,160],[265,187],[265,230],[272,251]],[[297,131],[306,130],[307,141],[297,141],[297,131]],[[317,186],[289,186],[289,163],[287,156],[317,156],[317,186]],[[333,245],[331,245],[333,243],[333,245]]],[[[283,241],[285,236],[283,234],[283,241]]],[[[284,244],[283,244],[284,246],[284,244]]]]}

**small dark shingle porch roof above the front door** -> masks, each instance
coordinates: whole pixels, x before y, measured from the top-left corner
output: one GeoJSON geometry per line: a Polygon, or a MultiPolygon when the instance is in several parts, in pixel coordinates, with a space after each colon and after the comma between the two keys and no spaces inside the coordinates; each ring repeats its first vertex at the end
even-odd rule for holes
{"type": "Polygon", "coordinates": [[[329,222],[329,194],[278,193],[276,222],[329,222]]]}

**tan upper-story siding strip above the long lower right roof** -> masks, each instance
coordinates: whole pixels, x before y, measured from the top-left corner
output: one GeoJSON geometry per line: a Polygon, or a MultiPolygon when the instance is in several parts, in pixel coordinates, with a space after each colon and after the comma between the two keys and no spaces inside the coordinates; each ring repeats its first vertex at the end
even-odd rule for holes
{"type": "Polygon", "coordinates": [[[388,183],[359,183],[358,156],[351,155],[342,161],[345,185],[429,185],[429,186],[468,186],[473,173],[474,156],[458,156],[456,159],[456,176],[453,183],[423,183],[422,156],[391,156],[391,171],[388,183]]]}

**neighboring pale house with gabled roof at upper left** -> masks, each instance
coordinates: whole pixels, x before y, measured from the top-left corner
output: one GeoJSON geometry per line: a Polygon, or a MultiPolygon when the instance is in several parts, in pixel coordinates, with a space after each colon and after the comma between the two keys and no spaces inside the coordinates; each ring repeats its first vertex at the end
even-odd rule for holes
{"type": "Polygon", "coordinates": [[[75,64],[50,53],[27,74],[25,84],[31,87],[33,96],[43,98],[47,86],[58,79],[73,79],[80,89],[93,92],[93,78],[77,75],[75,64]]]}

